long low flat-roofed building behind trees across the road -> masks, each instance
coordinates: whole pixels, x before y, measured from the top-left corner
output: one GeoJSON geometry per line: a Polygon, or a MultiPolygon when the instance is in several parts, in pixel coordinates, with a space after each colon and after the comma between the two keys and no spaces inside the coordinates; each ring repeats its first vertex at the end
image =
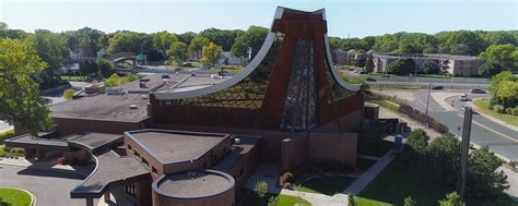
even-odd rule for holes
{"type": "Polygon", "coordinates": [[[444,72],[455,74],[456,76],[473,76],[479,73],[479,68],[483,61],[479,57],[456,56],[446,53],[382,53],[373,52],[374,71],[385,72],[390,62],[409,58],[416,66],[423,66],[425,63],[433,62],[440,66],[444,72]]]}

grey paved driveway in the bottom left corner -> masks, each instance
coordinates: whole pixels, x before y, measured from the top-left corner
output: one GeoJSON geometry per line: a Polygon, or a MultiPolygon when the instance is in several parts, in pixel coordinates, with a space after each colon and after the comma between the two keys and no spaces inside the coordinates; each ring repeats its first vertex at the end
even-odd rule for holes
{"type": "MultiPolygon", "coordinates": [[[[75,174],[22,167],[0,166],[0,186],[24,189],[36,196],[36,206],[84,206],[85,199],[71,199],[70,191],[82,182],[75,174]]],[[[97,199],[94,199],[94,205],[97,199]]]]}

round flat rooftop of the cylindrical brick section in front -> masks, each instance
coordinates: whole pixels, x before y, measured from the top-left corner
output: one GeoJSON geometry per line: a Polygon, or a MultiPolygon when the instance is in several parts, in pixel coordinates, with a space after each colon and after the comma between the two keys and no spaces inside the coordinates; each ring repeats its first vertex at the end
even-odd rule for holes
{"type": "Polygon", "coordinates": [[[226,192],[233,186],[232,177],[212,170],[167,175],[160,179],[156,185],[157,192],[177,198],[212,196],[226,192]]]}

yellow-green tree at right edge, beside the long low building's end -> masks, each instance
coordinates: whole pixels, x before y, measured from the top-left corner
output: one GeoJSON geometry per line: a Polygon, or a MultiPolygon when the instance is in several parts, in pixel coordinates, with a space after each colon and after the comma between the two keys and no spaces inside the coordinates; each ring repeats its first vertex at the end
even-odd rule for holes
{"type": "Polygon", "coordinates": [[[485,63],[499,65],[504,71],[518,72],[518,47],[511,44],[492,45],[480,53],[485,63]]]}

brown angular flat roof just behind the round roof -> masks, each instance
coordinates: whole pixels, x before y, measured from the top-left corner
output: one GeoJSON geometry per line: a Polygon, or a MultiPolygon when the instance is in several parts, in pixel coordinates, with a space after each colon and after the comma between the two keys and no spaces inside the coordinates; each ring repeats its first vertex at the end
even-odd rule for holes
{"type": "Polygon", "coordinates": [[[166,130],[132,131],[126,132],[126,135],[162,165],[198,159],[229,136],[219,133],[166,130]]]}

